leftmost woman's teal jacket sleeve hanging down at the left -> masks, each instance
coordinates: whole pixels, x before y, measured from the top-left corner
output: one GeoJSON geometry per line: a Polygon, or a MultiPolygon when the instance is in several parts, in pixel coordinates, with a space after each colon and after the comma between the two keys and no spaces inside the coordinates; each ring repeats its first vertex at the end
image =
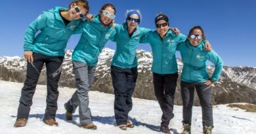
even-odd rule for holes
{"type": "Polygon", "coordinates": [[[38,16],[26,29],[24,38],[24,51],[33,49],[33,41],[35,40],[35,34],[37,31],[43,29],[47,25],[49,13],[43,12],[38,16]]]}

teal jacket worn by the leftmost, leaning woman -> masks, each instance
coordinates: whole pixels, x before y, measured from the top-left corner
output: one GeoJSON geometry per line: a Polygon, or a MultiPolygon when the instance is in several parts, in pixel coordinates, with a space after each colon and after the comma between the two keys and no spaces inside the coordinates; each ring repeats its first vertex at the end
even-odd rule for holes
{"type": "Polygon", "coordinates": [[[64,56],[64,50],[68,39],[82,20],[73,20],[65,25],[60,9],[55,7],[52,10],[43,12],[26,29],[24,39],[24,51],[32,51],[45,56],[64,56]],[[37,31],[41,31],[35,36],[37,31]]]}

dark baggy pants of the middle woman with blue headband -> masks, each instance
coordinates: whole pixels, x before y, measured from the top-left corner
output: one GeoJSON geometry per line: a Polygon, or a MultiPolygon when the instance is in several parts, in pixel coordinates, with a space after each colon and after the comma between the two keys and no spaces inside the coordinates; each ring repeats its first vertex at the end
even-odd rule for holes
{"type": "Polygon", "coordinates": [[[131,69],[122,69],[111,66],[112,83],[114,87],[115,101],[114,112],[117,126],[126,124],[128,114],[133,108],[131,99],[135,90],[138,76],[137,67],[131,69]]]}

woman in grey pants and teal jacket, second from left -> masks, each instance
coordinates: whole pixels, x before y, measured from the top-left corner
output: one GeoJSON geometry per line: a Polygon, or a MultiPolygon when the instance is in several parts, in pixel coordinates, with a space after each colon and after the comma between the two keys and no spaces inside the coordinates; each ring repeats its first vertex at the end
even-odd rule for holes
{"type": "Polygon", "coordinates": [[[80,126],[85,129],[96,129],[89,109],[88,92],[93,84],[98,56],[112,34],[112,22],[116,14],[114,5],[107,3],[102,6],[100,14],[93,16],[93,20],[85,21],[81,25],[81,39],[72,54],[77,90],[72,98],[65,103],[66,120],[72,120],[72,114],[79,106],[80,126]]]}

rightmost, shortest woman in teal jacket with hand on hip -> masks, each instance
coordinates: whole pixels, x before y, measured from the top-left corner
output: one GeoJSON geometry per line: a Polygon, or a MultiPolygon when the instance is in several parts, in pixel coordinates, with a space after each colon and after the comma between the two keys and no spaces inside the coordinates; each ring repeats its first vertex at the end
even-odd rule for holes
{"type": "Polygon", "coordinates": [[[182,134],[191,133],[192,106],[194,88],[198,93],[202,107],[203,133],[211,134],[213,128],[213,109],[211,107],[211,86],[219,80],[223,69],[223,61],[214,50],[204,50],[205,35],[200,26],[190,29],[188,40],[177,47],[181,52],[183,69],[181,74],[181,97],[183,101],[182,134]],[[209,77],[206,68],[207,60],[215,65],[213,75],[209,77]]]}

